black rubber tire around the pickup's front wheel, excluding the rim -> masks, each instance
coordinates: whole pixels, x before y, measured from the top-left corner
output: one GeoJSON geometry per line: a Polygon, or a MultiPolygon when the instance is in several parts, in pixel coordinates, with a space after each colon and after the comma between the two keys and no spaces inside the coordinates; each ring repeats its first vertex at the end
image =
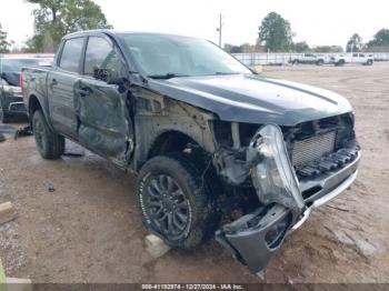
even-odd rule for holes
{"type": "Polygon", "coordinates": [[[220,215],[215,204],[215,192],[211,189],[201,162],[196,162],[184,153],[158,155],[149,160],[138,175],[138,204],[142,213],[144,225],[172,247],[183,250],[192,250],[201,242],[215,234],[220,223],[220,215]],[[184,231],[179,235],[163,233],[154,222],[148,204],[148,195],[152,179],[159,175],[169,175],[182,189],[188,201],[189,219],[184,231]]]}

